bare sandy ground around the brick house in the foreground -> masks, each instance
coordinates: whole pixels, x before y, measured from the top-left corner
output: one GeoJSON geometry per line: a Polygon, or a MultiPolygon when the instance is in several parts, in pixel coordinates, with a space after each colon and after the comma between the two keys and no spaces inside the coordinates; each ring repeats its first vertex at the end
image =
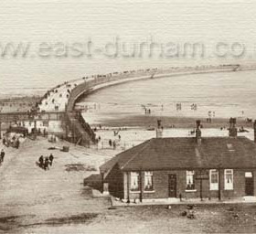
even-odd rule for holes
{"type": "MultiPolygon", "coordinates": [[[[67,143],[59,143],[61,146],[67,143]]],[[[255,206],[202,205],[195,219],[182,217],[186,206],[117,207],[106,197],[93,198],[83,178],[113,154],[70,146],[69,153],[49,151],[46,139],[27,140],[6,149],[0,167],[0,233],[255,233],[255,206]],[[40,154],[53,153],[48,171],[36,165],[40,154]],[[66,165],[72,165],[67,167],[66,165]],[[74,169],[80,165],[80,171],[74,169]],[[81,166],[83,165],[83,166],[81,166]],[[85,166],[86,165],[86,166],[85,166]],[[69,168],[67,170],[67,168],[69,168]],[[72,169],[70,169],[72,168],[72,169]]],[[[1,147],[1,146],[0,146],[1,147]]]]}

